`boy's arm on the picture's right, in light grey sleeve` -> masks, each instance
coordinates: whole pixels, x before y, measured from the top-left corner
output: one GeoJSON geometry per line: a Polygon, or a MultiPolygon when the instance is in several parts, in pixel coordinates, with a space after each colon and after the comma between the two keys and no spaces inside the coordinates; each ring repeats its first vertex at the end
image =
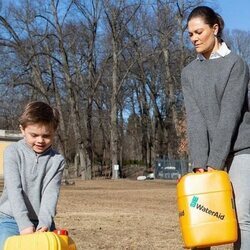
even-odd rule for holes
{"type": "Polygon", "coordinates": [[[37,230],[46,227],[49,229],[51,226],[56,213],[56,205],[59,197],[64,165],[65,162],[62,160],[57,171],[50,177],[49,180],[46,180],[45,186],[42,190],[41,206],[38,214],[39,224],[37,226],[37,230]]]}

